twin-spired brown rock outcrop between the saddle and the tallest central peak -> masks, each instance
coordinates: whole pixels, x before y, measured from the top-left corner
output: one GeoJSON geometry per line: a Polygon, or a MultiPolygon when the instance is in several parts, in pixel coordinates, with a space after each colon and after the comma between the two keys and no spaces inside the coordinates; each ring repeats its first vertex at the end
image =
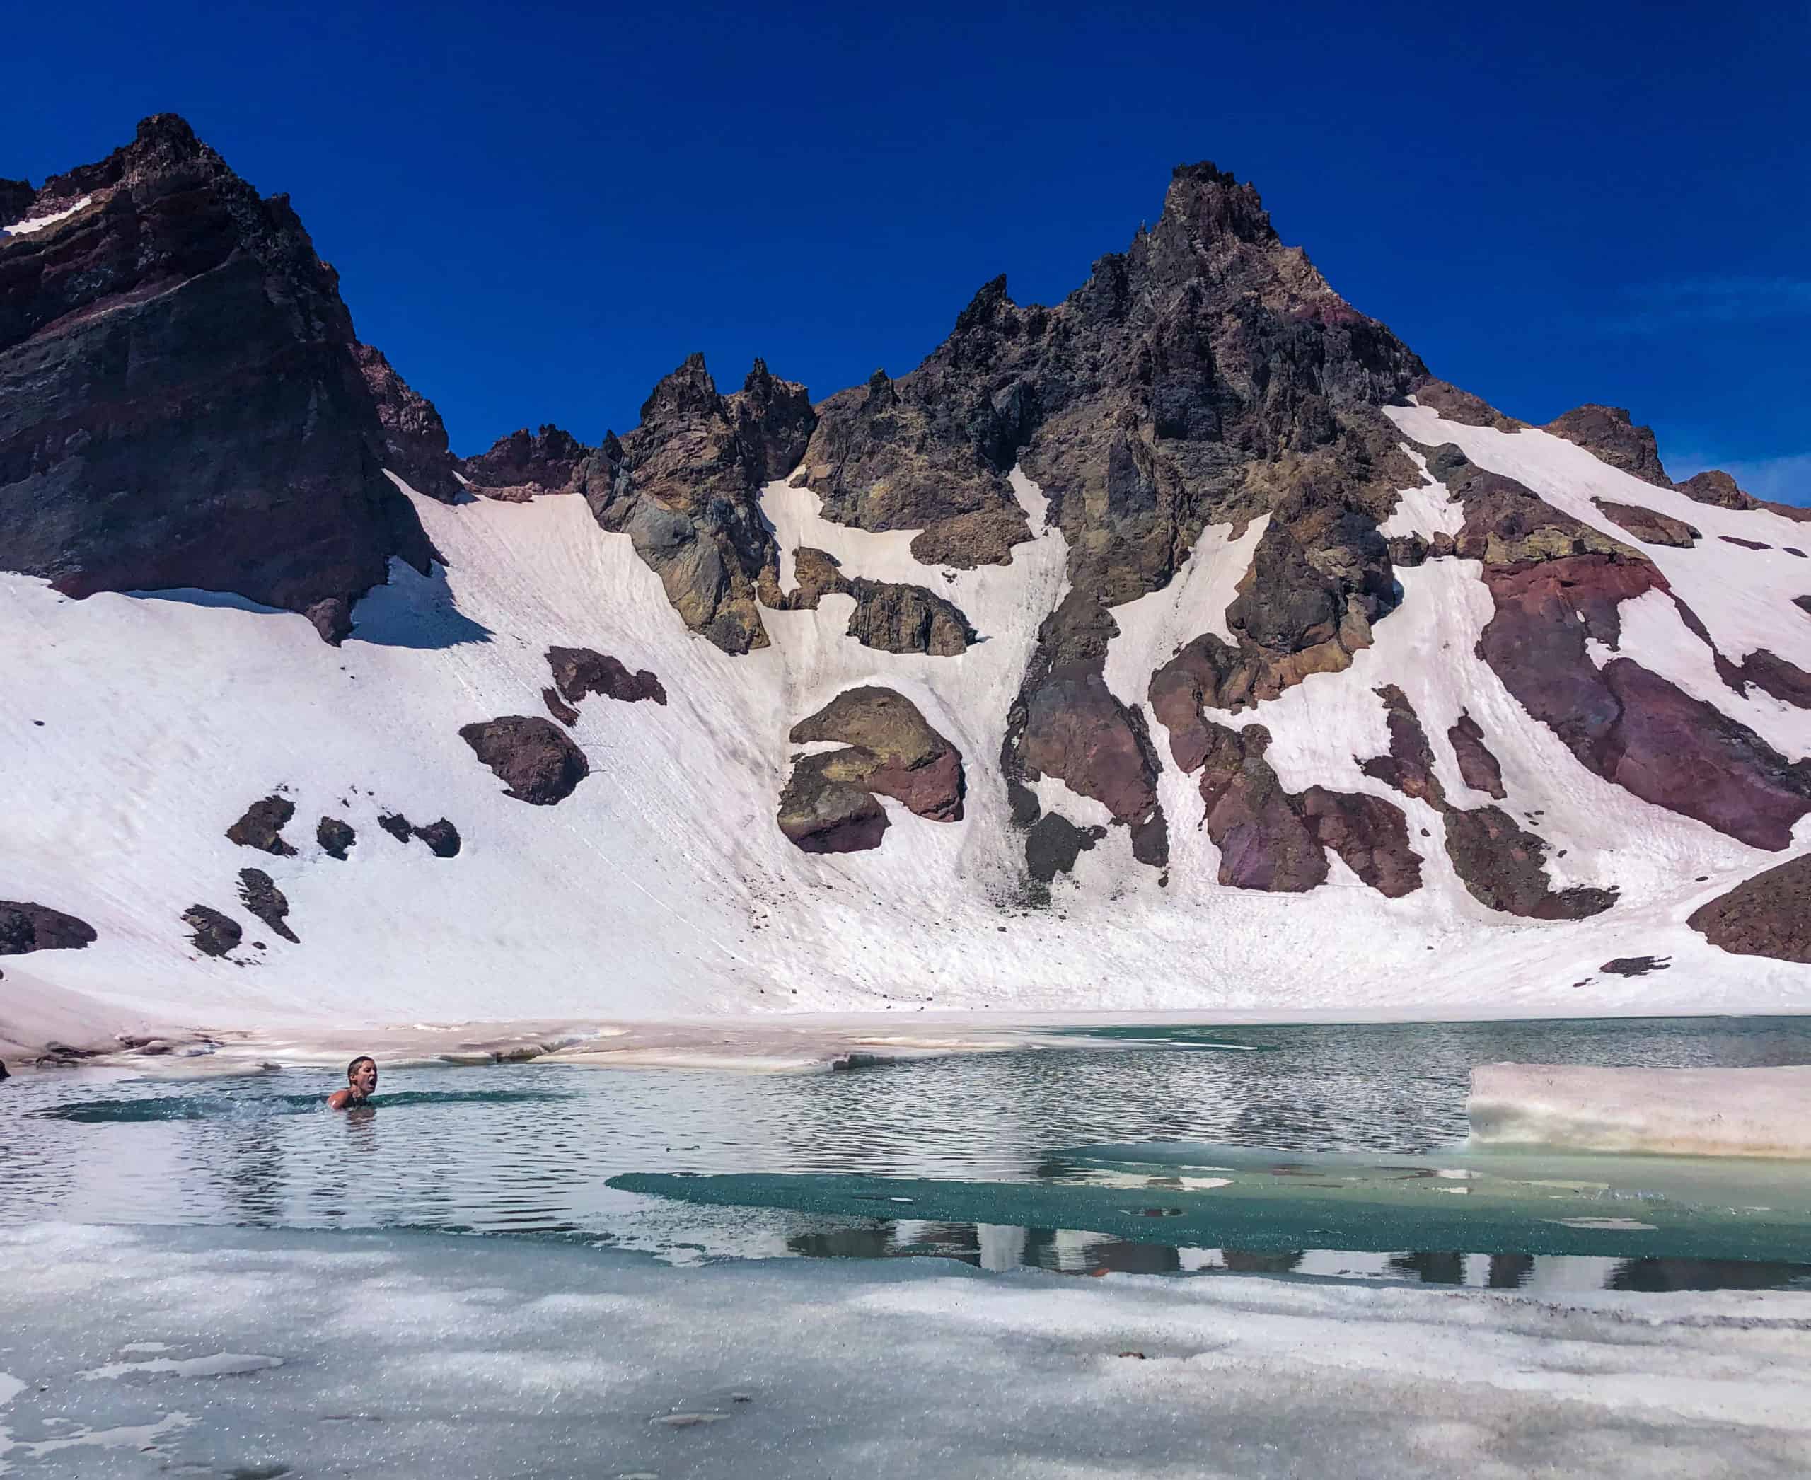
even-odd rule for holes
{"type": "Polygon", "coordinates": [[[782,605],[759,493],[793,469],[815,424],[804,386],[764,362],[719,395],[692,355],[654,388],[641,426],[585,458],[578,489],[603,529],[634,540],[686,627],[748,652],[768,645],[757,598],[782,605]]]}

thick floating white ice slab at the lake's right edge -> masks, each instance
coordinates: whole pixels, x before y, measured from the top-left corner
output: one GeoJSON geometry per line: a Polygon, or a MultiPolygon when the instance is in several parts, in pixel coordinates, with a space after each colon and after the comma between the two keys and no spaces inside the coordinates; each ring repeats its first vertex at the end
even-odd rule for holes
{"type": "Polygon", "coordinates": [[[1811,1158],[1811,1065],[1483,1063],[1465,1110],[1478,1145],[1811,1158]]]}

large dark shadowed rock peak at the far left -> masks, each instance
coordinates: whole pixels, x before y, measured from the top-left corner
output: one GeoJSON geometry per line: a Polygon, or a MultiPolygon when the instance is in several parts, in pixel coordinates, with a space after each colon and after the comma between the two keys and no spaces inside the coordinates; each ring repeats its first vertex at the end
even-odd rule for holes
{"type": "Polygon", "coordinates": [[[350,607],[391,556],[426,572],[337,277],[288,199],[174,114],[36,205],[81,197],[0,237],[5,567],[78,598],[203,587],[295,612],[350,607]]]}

